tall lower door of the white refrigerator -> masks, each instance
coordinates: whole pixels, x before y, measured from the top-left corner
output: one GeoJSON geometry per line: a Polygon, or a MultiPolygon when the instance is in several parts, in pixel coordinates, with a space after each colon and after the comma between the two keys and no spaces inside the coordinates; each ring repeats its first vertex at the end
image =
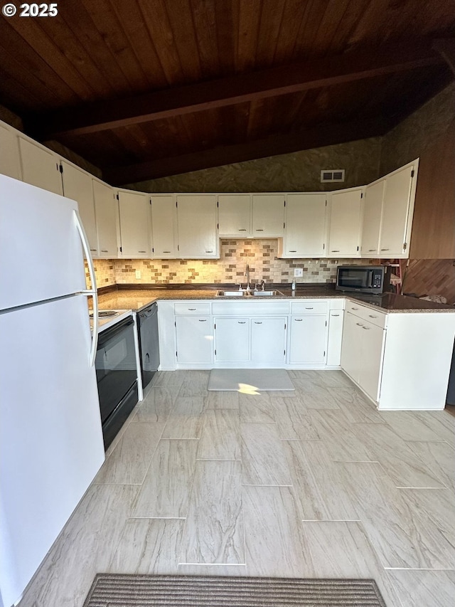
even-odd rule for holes
{"type": "Polygon", "coordinates": [[[82,295],[0,314],[0,604],[17,601],[105,450],[82,295]]]}

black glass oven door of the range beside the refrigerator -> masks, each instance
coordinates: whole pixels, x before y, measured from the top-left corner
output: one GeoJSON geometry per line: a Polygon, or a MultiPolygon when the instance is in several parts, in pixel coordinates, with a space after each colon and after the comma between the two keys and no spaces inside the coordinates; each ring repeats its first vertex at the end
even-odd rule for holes
{"type": "Polygon", "coordinates": [[[137,381],[132,317],[100,333],[95,369],[104,424],[137,381]]]}

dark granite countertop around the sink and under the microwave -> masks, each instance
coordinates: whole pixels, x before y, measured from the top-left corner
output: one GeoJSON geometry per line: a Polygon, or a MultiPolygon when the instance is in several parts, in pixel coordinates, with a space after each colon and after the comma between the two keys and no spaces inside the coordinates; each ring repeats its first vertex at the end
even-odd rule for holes
{"type": "MultiPolygon", "coordinates": [[[[364,295],[363,293],[351,293],[336,291],[335,285],[328,284],[299,284],[296,291],[292,292],[291,285],[274,284],[267,285],[267,289],[277,289],[283,293],[278,297],[261,297],[261,300],[298,300],[298,299],[327,299],[328,297],[348,297],[351,300],[361,302],[372,307],[379,307],[385,312],[455,312],[451,305],[438,304],[417,297],[406,295],[395,295],[385,293],[384,295],[364,295]]],[[[117,285],[107,287],[100,291],[99,305],[101,309],[112,308],[114,310],[133,310],[137,312],[147,305],[158,300],[228,300],[228,301],[252,301],[253,297],[216,297],[217,290],[232,290],[233,285],[117,285]]],[[[254,301],[257,301],[254,299],[254,301]]]]}

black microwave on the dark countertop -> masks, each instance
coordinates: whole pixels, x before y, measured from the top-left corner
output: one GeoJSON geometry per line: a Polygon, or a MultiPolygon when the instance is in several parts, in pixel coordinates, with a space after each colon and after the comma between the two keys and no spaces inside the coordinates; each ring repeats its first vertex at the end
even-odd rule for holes
{"type": "Polygon", "coordinates": [[[390,267],[387,265],[338,265],[338,291],[383,293],[390,290],[390,267]]]}

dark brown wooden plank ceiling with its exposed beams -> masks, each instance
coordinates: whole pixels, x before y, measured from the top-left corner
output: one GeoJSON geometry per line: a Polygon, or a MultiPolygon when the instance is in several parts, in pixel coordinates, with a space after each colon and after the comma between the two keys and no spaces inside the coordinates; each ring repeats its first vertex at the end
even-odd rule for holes
{"type": "Polygon", "coordinates": [[[454,36],[455,0],[63,0],[2,16],[0,103],[128,184],[383,134],[454,36]]]}

